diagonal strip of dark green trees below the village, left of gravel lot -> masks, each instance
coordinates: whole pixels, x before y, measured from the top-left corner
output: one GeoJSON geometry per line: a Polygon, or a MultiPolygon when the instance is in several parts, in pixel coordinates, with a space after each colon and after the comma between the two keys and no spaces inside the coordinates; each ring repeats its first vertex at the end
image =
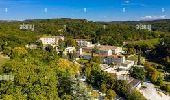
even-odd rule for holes
{"type": "Polygon", "coordinates": [[[103,72],[98,63],[87,63],[84,73],[89,84],[106,93],[105,99],[113,99],[118,94],[128,100],[136,100],[137,97],[140,97],[139,100],[145,100],[143,95],[137,90],[131,89],[131,86],[126,81],[117,80],[116,75],[103,72]]]}

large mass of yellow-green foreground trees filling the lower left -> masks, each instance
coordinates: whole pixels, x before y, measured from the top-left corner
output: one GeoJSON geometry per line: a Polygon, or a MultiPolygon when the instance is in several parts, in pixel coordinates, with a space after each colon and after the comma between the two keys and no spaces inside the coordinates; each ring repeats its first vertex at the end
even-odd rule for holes
{"type": "Polygon", "coordinates": [[[0,75],[12,75],[14,80],[0,80],[0,98],[8,100],[88,98],[86,94],[80,95],[88,92],[86,88],[76,85],[80,83],[75,80],[80,72],[79,65],[59,58],[55,52],[53,55],[51,53],[41,49],[14,48],[13,58],[0,67],[0,75]],[[78,92],[80,90],[81,92],[78,92]],[[77,93],[73,94],[73,91],[77,93]]]}

